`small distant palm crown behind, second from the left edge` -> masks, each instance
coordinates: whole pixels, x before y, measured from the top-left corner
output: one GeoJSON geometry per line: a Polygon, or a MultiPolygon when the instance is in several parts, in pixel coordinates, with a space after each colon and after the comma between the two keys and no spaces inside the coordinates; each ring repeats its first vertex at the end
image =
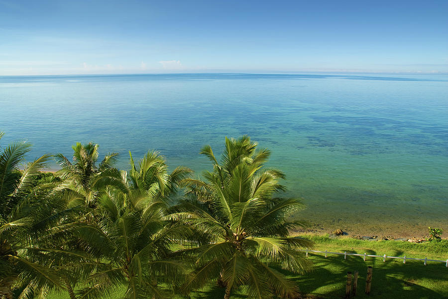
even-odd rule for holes
{"type": "Polygon", "coordinates": [[[115,186],[123,192],[127,191],[119,171],[113,168],[118,153],[108,153],[97,166],[98,144],[77,143],[72,148],[73,163],[62,153],[55,155],[62,167],[56,176],[64,180],[67,184],[67,192],[70,192],[72,197],[82,198],[88,207],[95,208],[96,198],[106,186],[115,186]]]}

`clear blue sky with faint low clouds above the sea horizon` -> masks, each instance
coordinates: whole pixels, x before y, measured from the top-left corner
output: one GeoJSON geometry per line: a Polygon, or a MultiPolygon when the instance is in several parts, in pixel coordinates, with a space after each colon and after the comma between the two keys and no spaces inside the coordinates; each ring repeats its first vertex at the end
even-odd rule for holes
{"type": "Polygon", "coordinates": [[[447,74],[447,15],[447,0],[0,0],[0,75],[447,74]]]}

